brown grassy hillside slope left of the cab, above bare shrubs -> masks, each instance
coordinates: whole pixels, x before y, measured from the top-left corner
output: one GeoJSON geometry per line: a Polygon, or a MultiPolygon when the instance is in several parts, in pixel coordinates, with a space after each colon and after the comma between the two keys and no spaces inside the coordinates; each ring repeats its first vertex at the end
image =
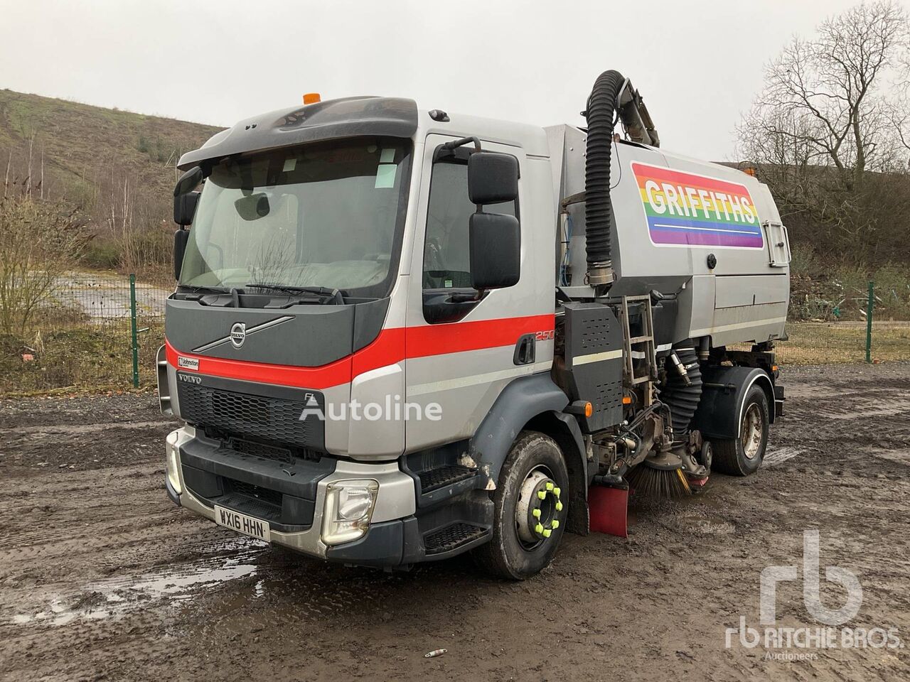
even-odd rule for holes
{"type": "MultiPolygon", "coordinates": [[[[45,158],[43,196],[72,199],[91,209],[112,173],[167,193],[174,184],[174,163],[218,130],[159,116],[133,114],[0,90],[0,174],[10,163],[9,182],[27,184],[29,143],[32,186],[38,186],[45,158]]],[[[41,194],[40,188],[33,194],[41,194]]]]}

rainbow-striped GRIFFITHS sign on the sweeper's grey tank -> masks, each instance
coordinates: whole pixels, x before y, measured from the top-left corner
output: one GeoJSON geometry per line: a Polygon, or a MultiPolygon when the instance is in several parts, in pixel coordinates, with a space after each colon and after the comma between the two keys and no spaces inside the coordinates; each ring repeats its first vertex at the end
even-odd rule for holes
{"type": "Polygon", "coordinates": [[[744,185],[632,163],[651,241],[659,246],[763,248],[762,224],[744,185]]]}

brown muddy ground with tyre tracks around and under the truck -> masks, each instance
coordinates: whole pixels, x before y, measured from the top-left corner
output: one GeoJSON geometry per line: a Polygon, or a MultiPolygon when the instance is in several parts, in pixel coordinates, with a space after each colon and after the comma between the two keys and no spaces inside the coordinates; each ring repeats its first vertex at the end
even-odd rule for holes
{"type": "MultiPolygon", "coordinates": [[[[638,503],[630,537],[567,536],[524,583],[469,557],[324,565],[190,516],[164,489],[173,424],[153,395],[0,402],[0,679],[908,679],[910,364],[785,377],[756,476],[638,503]],[[847,626],[896,627],[903,648],[725,647],[741,616],[759,627],[759,574],[801,564],[808,528],[823,569],[861,581],[847,626]]],[[[777,615],[820,626],[801,581],[777,615]]]]}

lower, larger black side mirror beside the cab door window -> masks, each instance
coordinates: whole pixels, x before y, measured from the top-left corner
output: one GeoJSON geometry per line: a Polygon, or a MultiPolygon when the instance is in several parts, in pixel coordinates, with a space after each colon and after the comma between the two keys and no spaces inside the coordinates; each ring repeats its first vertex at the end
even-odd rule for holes
{"type": "MultiPolygon", "coordinates": [[[[471,158],[474,156],[478,155],[471,158]]],[[[521,274],[521,227],[515,216],[471,214],[468,240],[471,286],[482,290],[518,284],[521,274]]]]}

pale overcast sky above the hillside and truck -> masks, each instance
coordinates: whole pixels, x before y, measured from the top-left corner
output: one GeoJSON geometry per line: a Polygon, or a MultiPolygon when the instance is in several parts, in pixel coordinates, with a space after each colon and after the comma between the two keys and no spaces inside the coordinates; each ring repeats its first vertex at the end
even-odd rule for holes
{"type": "Polygon", "coordinates": [[[854,4],[0,0],[0,87],[214,125],[305,92],[551,125],[580,124],[615,68],[664,146],[725,159],[763,64],[854,4]]]}

